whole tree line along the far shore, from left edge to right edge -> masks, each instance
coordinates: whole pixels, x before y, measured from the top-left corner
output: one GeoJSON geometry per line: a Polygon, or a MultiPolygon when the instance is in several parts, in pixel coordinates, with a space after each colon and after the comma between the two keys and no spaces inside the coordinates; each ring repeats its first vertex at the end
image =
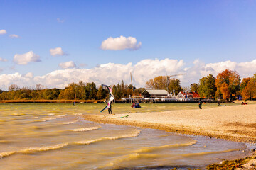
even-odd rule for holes
{"type": "MultiPolygon", "coordinates": [[[[166,76],[154,77],[146,81],[146,89],[166,89],[169,93],[175,91],[175,95],[180,91],[195,91],[201,98],[223,98],[233,100],[235,96],[242,96],[244,100],[256,98],[256,74],[240,80],[238,72],[226,69],[220,72],[217,77],[208,74],[202,77],[198,83],[193,83],[189,87],[182,87],[179,79],[169,79],[166,76]]],[[[144,88],[136,88],[132,84],[124,84],[124,81],[112,85],[112,94],[117,100],[129,98],[134,94],[138,96],[144,88]],[[133,93],[132,93],[133,92],[133,93]]],[[[96,86],[94,82],[68,84],[65,89],[47,89],[41,84],[36,84],[36,88],[22,87],[11,84],[8,91],[0,90],[0,100],[73,100],[76,96],[78,100],[101,100],[107,98],[108,92],[101,86],[96,86]]]]}

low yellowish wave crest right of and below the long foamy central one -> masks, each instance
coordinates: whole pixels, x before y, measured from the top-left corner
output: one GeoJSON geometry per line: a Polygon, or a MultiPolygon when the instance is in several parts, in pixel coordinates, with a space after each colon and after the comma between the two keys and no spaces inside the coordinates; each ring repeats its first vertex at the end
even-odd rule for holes
{"type": "Polygon", "coordinates": [[[192,142],[183,143],[183,144],[171,144],[171,145],[162,145],[162,146],[156,146],[156,147],[142,147],[141,149],[135,150],[134,152],[152,152],[156,149],[166,149],[171,147],[186,147],[190,145],[196,144],[196,140],[193,140],[192,142]]]}

